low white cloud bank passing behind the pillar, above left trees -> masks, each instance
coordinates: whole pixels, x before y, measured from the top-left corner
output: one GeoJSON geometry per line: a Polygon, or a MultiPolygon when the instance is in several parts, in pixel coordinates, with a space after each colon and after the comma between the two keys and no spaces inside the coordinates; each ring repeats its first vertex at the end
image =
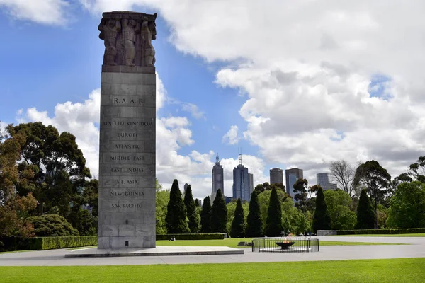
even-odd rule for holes
{"type": "MultiPolygon", "coordinates": [[[[166,89],[157,76],[157,110],[164,106],[166,89]]],[[[58,103],[54,115],[36,108],[18,110],[18,122],[40,121],[45,125],[53,125],[60,132],[71,132],[77,139],[77,144],[86,158],[86,166],[92,175],[98,178],[98,141],[99,129],[96,127],[100,117],[100,89],[89,94],[84,103],[58,103]],[[84,129],[84,130],[81,130],[84,129]]],[[[194,144],[191,132],[191,122],[187,117],[157,117],[157,178],[164,188],[170,188],[174,179],[190,183],[193,195],[203,198],[211,192],[211,168],[213,166],[213,151],[190,154],[179,154],[184,146],[194,144]]],[[[259,163],[259,162],[257,162],[259,163]]],[[[233,164],[233,166],[236,163],[233,164]]],[[[229,178],[229,177],[228,177],[229,178]]],[[[231,177],[230,177],[231,178],[231,177]]],[[[227,180],[228,182],[229,180],[227,180]]],[[[230,185],[231,186],[231,185],[230,185]]]]}

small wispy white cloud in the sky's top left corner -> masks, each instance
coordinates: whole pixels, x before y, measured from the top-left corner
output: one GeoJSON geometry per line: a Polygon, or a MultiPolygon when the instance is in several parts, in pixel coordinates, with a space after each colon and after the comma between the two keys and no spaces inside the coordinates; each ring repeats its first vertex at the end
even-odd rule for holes
{"type": "Polygon", "coordinates": [[[69,3],[64,0],[0,0],[0,8],[18,20],[33,21],[45,25],[67,23],[69,3]]]}

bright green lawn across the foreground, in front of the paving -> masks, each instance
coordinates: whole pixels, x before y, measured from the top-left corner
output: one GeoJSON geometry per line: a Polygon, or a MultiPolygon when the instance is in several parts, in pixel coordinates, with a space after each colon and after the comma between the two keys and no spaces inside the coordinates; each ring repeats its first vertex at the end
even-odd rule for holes
{"type": "Polygon", "coordinates": [[[202,265],[0,267],[2,283],[423,282],[425,258],[202,265]]]}

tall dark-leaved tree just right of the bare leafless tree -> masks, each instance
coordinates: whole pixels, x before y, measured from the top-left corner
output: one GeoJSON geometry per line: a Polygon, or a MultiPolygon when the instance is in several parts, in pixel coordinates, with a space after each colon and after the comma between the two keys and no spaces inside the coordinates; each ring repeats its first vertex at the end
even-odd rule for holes
{"type": "Polygon", "coordinates": [[[383,203],[385,190],[390,186],[391,175],[382,168],[378,161],[366,161],[358,166],[354,176],[353,186],[364,187],[375,203],[375,229],[378,229],[377,208],[378,202],[383,203]]]}

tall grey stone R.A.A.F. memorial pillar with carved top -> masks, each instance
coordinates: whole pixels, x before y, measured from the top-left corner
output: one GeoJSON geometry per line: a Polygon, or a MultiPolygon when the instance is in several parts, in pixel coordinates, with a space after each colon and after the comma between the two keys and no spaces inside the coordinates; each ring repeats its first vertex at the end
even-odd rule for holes
{"type": "Polygon", "coordinates": [[[114,11],[98,26],[105,43],[98,248],[155,247],[156,18],[114,11]]]}

